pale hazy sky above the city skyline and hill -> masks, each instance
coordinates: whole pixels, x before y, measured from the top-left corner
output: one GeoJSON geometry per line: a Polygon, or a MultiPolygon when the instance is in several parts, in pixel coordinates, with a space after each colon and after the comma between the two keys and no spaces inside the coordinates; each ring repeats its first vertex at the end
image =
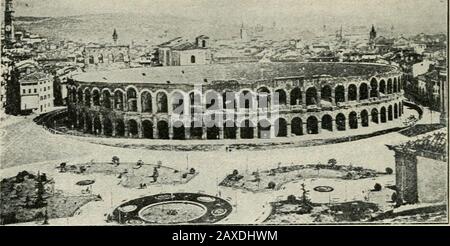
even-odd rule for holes
{"type": "MultiPolygon", "coordinates": [[[[171,14],[207,22],[382,24],[446,31],[447,0],[14,0],[17,16],[171,14]]],[[[151,20],[149,20],[151,21],[151,20]]]]}

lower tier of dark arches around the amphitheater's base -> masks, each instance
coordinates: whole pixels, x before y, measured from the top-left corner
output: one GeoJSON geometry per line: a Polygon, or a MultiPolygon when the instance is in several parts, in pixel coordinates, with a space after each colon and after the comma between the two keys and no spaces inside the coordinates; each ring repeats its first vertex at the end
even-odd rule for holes
{"type": "Polygon", "coordinates": [[[168,119],[110,118],[96,113],[70,113],[76,127],[85,133],[146,139],[269,139],[293,137],[323,132],[347,131],[369,127],[398,119],[403,115],[403,103],[394,102],[378,107],[361,107],[344,112],[318,112],[306,115],[283,115],[259,121],[227,120],[222,124],[201,120],[185,123],[168,119]]]}

